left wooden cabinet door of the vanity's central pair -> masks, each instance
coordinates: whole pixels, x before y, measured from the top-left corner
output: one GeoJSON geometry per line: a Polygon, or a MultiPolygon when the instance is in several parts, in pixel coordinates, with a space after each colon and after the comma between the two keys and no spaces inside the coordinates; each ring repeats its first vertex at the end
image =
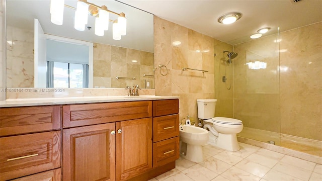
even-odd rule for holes
{"type": "Polygon", "coordinates": [[[115,123],[63,130],[63,180],[115,180],[115,123]]]}

